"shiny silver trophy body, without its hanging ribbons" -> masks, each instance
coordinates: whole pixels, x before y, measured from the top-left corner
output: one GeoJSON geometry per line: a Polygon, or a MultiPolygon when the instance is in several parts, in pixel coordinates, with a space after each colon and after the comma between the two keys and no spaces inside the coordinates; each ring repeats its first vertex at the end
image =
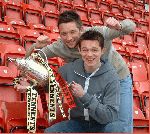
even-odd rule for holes
{"type": "MultiPolygon", "coordinates": [[[[22,77],[25,77],[32,82],[36,81],[38,86],[44,86],[46,85],[46,83],[48,83],[49,78],[48,69],[44,65],[42,65],[39,61],[34,59],[32,56],[26,59],[8,58],[8,60],[16,64],[17,68],[20,70],[20,75],[22,77]]],[[[47,57],[44,62],[46,62],[48,65],[47,57]]]]}

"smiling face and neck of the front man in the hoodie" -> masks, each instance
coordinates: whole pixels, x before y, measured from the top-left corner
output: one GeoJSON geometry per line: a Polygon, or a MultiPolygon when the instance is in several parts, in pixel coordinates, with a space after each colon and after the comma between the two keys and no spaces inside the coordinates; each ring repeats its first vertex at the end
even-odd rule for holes
{"type": "Polygon", "coordinates": [[[97,40],[83,40],[79,52],[84,61],[84,67],[87,72],[93,72],[100,67],[101,55],[104,53],[97,40]]]}

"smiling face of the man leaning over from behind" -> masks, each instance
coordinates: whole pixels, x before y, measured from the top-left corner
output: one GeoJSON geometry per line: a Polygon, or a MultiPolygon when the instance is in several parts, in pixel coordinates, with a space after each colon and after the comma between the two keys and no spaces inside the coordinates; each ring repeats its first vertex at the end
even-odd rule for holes
{"type": "Polygon", "coordinates": [[[61,23],[59,25],[60,37],[68,48],[74,48],[82,30],[75,22],[61,23]]]}

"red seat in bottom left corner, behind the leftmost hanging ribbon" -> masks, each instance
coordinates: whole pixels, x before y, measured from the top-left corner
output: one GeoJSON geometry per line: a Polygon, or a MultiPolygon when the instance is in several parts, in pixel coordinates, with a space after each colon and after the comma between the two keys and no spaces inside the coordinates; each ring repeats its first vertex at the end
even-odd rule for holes
{"type": "MultiPolygon", "coordinates": [[[[27,130],[27,105],[26,101],[3,102],[2,111],[5,119],[5,131],[7,133],[24,133],[27,130]],[[18,110],[19,109],[19,110],[18,110]]],[[[37,115],[37,133],[43,132],[48,127],[48,122],[37,115]]]]}

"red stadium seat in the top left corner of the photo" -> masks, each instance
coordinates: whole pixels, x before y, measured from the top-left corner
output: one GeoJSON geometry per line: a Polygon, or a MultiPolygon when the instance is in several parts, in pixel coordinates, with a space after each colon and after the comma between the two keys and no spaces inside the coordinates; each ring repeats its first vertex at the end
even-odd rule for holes
{"type": "Polygon", "coordinates": [[[19,0],[2,0],[4,7],[4,16],[9,16],[10,18],[23,19],[23,10],[21,6],[21,1],[19,0]]]}

